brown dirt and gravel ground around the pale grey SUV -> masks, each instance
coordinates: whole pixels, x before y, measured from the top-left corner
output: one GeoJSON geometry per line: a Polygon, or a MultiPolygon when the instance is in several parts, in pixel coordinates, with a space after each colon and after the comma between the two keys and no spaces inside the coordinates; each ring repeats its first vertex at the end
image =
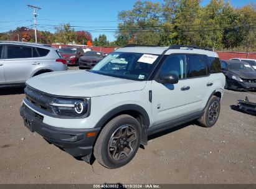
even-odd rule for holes
{"type": "Polygon", "coordinates": [[[24,127],[21,89],[0,90],[0,183],[256,183],[256,117],[230,109],[256,93],[225,91],[216,126],[150,137],[130,164],[109,170],[71,157],[24,127]]]}

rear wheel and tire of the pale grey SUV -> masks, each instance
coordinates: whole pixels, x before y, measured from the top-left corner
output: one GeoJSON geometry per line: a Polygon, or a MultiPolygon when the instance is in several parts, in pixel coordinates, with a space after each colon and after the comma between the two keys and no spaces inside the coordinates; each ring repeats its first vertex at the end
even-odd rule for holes
{"type": "Polygon", "coordinates": [[[203,127],[212,127],[216,124],[220,113],[220,99],[217,96],[212,96],[208,101],[204,115],[198,119],[199,124],[203,127]]]}

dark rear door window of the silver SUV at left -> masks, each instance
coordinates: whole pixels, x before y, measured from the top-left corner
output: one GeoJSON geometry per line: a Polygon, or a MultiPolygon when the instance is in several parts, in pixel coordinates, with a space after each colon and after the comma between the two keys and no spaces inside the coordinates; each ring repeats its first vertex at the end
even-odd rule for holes
{"type": "Polygon", "coordinates": [[[23,45],[7,45],[7,58],[32,58],[32,48],[23,45]]]}

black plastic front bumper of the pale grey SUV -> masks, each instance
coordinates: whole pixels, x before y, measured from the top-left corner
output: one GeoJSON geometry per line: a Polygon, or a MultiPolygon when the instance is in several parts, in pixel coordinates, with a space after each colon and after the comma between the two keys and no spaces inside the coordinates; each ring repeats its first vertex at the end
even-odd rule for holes
{"type": "Polygon", "coordinates": [[[89,162],[93,144],[100,128],[92,129],[65,129],[44,124],[44,116],[32,111],[26,104],[22,104],[20,114],[25,126],[31,132],[37,132],[44,139],[60,149],[65,150],[73,157],[82,157],[89,162]],[[87,137],[88,132],[95,132],[95,136],[87,137]]]}

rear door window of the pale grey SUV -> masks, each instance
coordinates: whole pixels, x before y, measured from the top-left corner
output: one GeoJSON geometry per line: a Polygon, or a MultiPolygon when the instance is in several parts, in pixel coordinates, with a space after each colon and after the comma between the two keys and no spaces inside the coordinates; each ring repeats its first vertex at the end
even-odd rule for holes
{"type": "Polygon", "coordinates": [[[207,75],[207,66],[204,58],[200,55],[187,55],[188,69],[187,78],[207,75]]]}

